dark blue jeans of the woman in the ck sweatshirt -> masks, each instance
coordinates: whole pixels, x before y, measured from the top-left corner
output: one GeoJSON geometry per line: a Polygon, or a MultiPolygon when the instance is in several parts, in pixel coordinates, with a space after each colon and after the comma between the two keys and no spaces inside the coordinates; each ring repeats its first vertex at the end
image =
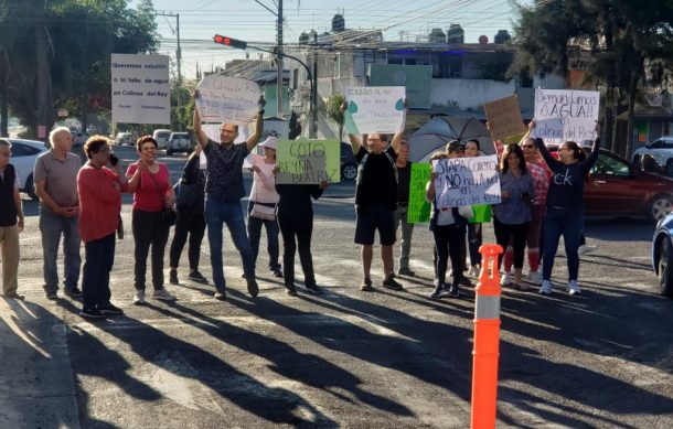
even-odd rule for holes
{"type": "Polygon", "coordinates": [[[580,211],[548,208],[544,218],[544,256],[542,264],[542,278],[549,280],[554,268],[554,258],[558,248],[558,240],[563,235],[568,260],[568,280],[577,280],[579,274],[579,236],[584,229],[584,216],[580,211]]]}

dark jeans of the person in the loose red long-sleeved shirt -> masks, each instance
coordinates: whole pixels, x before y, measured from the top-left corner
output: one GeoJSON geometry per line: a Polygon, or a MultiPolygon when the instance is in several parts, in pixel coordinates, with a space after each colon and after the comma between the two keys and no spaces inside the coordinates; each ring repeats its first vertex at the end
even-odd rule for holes
{"type": "Polygon", "coordinates": [[[82,274],[82,301],[84,309],[95,309],[110,303],[110,271],[115,262],[115,234],[94,239],[84,245],[86,261],[82,274]]]}

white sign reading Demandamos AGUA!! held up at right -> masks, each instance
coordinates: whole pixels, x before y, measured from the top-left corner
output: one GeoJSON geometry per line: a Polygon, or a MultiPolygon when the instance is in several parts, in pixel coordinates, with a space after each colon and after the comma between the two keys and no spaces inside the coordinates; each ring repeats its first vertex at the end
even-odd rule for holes
{"type": "Polygon", "coordinates": [[[535,89],[534,136],[545,142],[594,140],[599,100],[595,90],[535,89]]]}

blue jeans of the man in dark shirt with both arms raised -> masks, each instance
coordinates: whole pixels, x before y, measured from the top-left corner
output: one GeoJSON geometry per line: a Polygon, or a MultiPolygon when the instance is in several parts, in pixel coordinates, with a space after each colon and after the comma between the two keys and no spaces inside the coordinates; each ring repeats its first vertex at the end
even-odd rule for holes
{"type": "Polygon", "coordinates": [[[221,203],[205,199],[205,224],[207,225],[209,243],[211,246],[211,268],[213,269],[213,282],[218,292],[224,292],[226,282],[224,279],[222,251],[222,227],[226,224],[232,235],[234,246],[241,254],[243,260],[243,272],[250,281],[255,279],[255,261],[253,260],[253,248],[245,232],[245,222],[241,202],[221,203]]]}

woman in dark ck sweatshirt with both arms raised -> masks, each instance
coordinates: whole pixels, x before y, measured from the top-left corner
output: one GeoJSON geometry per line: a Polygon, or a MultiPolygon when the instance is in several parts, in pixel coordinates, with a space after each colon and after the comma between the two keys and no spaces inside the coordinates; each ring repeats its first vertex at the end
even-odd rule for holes
{"type": "MultiPolygon", "coordinates": [[[[535,129],[535,121],[528,124],[528,129],[535,129]]],[[[600,125],[596,122],[596,136],[600,133],[600,125]]],[[[535,146],[542,153],[547,167],[552,170],[552,181],[547,192],[547,214],[544,219],[543,238],[544,255],[542,264],[542,286],[540,293],[552,293],[552,269],[563,235],[568,261],[568,287],[570,294],[581,292],[577,285],[579,274],[579,239],[584,229],[584,185],[589,170],[598,159],[600,139],[597,137],[591,148],[591,154],[585,155],[584,150],[574,141],[566,141],[558,148],[558,160],[555,159],[541,138],[535,139],[535,146]]]]}

